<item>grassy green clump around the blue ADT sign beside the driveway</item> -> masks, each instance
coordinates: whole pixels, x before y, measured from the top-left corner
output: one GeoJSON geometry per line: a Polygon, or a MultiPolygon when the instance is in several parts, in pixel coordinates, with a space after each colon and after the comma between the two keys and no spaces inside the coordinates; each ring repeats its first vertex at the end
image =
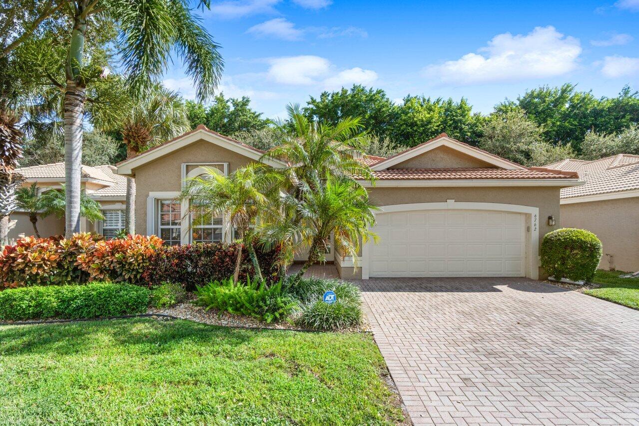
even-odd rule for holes
{"type": "Polygon", "coordinates": [[[357,285],[341,280],[302,278],[298,282],[289,278],[289,293],[300,300],[300,315],[296,323],[316,330],[339,330],[362,324],[362,295],[357,285]],[[328,290],[335,292],[337,301],[323,301],[328,290]]]}

